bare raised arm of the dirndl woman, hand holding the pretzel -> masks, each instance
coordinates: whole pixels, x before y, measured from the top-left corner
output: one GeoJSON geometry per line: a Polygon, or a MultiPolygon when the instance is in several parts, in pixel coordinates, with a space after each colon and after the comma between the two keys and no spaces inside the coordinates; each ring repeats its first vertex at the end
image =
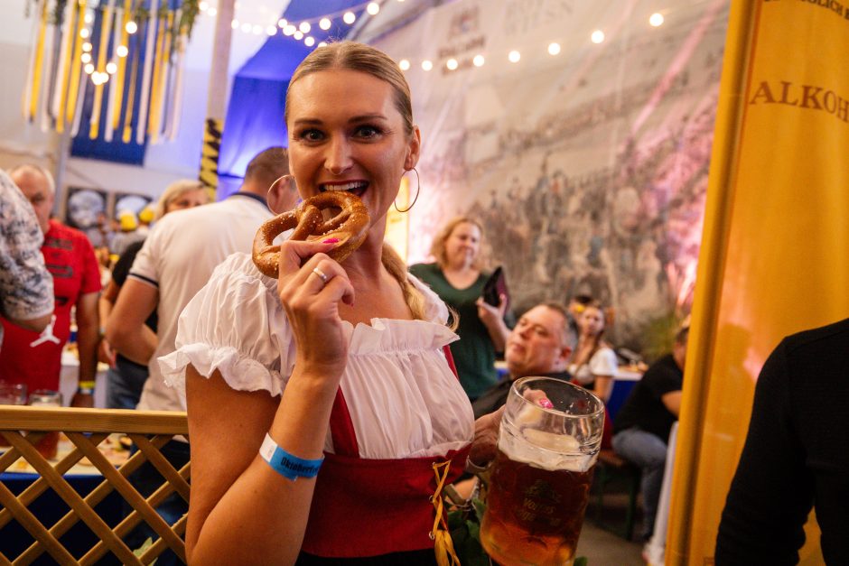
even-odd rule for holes
{"type": "MultiPolygon", "coordinates": [[[[285,478],[257,450],[267,432],[297,458],[322,458],[348,360],[338,305],[353,304],[341,265],[316,253],[329,249],[292,240],[281,246],[278,292],[293,330],[297,364],[279,401],[259,392],[235,392],[218,372],[206,379],[187,371],[192,478],[186,552],[192,564],[293,564],[297,559],[315,478],[285,478]],[[327,283],[313,273],[316,267],[327,283]]],[[[126,285],[119,305],[125,291],[126,285]]]]}

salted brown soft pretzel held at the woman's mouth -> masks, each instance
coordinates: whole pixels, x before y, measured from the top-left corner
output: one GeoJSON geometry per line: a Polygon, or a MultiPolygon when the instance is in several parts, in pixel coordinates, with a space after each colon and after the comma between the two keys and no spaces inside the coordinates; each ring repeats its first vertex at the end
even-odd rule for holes
{"type": "Polygon", "coordinates": [[[369,210],[358,196],[342,190],[327,191],[303,200],[294,210],[271,218],[257,230],[252,258],[257,269],[269,277],[277,277],[280,246],[275,237],[294,228],[290,240],[315,240],[335,237],[339,244],[327,253],[332,259],[345,261],[366,239],[369,210]],[[322,210],[341,209],[336,216],[324,220],[322,210]]]}

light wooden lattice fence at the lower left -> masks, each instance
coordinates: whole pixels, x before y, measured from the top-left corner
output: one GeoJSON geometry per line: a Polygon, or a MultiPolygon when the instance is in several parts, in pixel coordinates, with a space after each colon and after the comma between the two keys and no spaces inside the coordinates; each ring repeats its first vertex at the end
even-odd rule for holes
{"type": "Polygon", "coordinates": [[[166,548],[171,548],[185,561],[183,534],[186,517],[169,526],[154,508],[173,492],[189,500],[190,465],[174,469],[160,452],[166,442],[175,436],[186,435],[188,431],[186,413],[0,405],[0,434],[12,445],[0,456],[0,473],[23,456],[39,475],[17,496],[0,483],[0,529],[14,519],[35,540],[17,557],[0,553],[0,563],[28,564],[43,552],[48,552],[52,560],[60,564],[91,564],[112,552],[123,564],[149,564],[166,548]],[[34,448],[34,444],[48,431],[63,432],[75,446],[67,456],[56,462],[44,459],[34,448]],[[129,436],[139,449],[117,469],[98,450],[98,444],[114,432],[129,436]],[[62,474],[84,457],[103,475],[103,481],[83,497],[62,474]],[[162,486],[146,499],[127,480],[127,476],[145,461],[150,461],[165,478],[162,486]],[[45,525],[28,506],[49,487],[65,501],[70,511],[56,524],[45,525]],[[94,507],[113,490],[134,511],[110,527],[98,516],[94,507]],[[59,539],[80,520],[100,540],[88,552],[75,557],[59,539]],[[135,556],[122,538],[142,521],[149,524],[160,538],[140,556],[135,556]]]}

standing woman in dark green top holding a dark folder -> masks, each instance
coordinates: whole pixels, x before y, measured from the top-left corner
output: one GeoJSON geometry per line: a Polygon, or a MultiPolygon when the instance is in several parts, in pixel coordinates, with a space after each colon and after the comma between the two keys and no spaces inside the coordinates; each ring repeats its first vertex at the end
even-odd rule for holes
{"type": "Polygon", "coordinates": [[[480,239],[483,228],[468,217],[450,220],[434,237],[433,264],[415,264],[410,273],[431,286],[459,321],[458,342],[451,353],[463,390],[474,401],[498,382],[496,352],[504,351],[510,329],[505,322],[506,304],[499,306],[481,299],[490,274],[482,270],[480,239]]]}

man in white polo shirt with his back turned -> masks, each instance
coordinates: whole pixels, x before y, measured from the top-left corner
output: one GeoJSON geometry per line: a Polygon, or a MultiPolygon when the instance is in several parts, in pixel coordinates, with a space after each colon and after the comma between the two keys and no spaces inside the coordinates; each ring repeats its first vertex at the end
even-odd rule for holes
{"type": "MultiPolygon", "coordinates": [[[[212,270],[230,254],[250,253],[257,229],[273,216],[268,206],[280,211],[294,208],[298,198],[294,183],[275,183],[288,172],[286,150],[266,149],[248,163],[245,181],[236,193],[214,204],[174,211],[151,230],[121,288],[106,331],[113,348],[136,363],[146,364],[150,371],[136,408],[185,410],[177,391],[164,384],[156,358],[174,351],[180,313],[210,280],[212,270]],[[271,187],[274,190],[269,192],[271,187]],[[266,194],[271,200],[267,205],[266,194]],[[145,325],[154,309],[159,317],[156,335],[145,325]]],[[[189,460],[186,442],[171,441],[162,452],[177,469],[189,460]]],[[[134,475],[133,483],[147,496],[161,483],[161,477],[145,464],[134,475]]],[[[157,508],[169,524],[187,510],[188,505],[179,496],[170,497],[157,508]]],[[[170,553],[167,557],[163,554],[157,564],[173,558],[170,553]]]]}

